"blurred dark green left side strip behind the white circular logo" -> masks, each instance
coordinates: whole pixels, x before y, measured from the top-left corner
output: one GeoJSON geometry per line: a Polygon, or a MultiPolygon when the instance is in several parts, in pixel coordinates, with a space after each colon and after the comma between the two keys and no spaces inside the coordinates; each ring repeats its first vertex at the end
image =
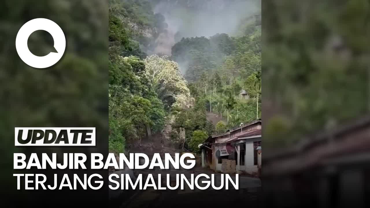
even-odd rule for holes
{"type": "MultiPolygon", "coordinates": [[[[10,199],[6,194],[17,194],[38,203],[46,195],[13,192],[17,187],[13,152],[108,151],[108,1],[3,0],[0,26],[1,195],[10,199]],[[46,69],[29,67],[16,52],[18,30],[35,18],[57,23],[67,41],[63,58],[46,69]],[[97,147],[16,148],[14,127],[96,127],[97,147]]],[[[47,32],[36,31],[28,47],[35,55],[45,56],[53,50],[53,40],[47,32]]],[[[83,201],[83,195],[79,197],[83,201]]]]}

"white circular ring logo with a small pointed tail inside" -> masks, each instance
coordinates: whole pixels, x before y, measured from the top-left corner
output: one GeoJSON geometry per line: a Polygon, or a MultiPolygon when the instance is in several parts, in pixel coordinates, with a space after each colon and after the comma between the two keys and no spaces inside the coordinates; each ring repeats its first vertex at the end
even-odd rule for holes
{"type": "Polygon", "coordinates": [[[65,36],[63,30],[53,21],[38,18],[28,21],[18,31],[16,37],[16,49],[19,57],[28,66],[34,68],[47,68],[56,64],[64,54],[65,36]],[[50,52],[46,56],[35,56],[28,49],[28,37],[36,30],[45,30],[51,34],[54,40],[54,48],[57,51],[50,52]]]}

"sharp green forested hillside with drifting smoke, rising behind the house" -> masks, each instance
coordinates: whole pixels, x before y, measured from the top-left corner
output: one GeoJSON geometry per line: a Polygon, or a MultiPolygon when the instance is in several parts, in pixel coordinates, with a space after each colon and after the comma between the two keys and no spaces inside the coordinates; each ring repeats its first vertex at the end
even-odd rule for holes
{"type": "Polygon", "coordinates": [[[197,152],[208,135],[260,118],[256,8],[253,0],[111,0],[110,151],[161,134],[197,152]],[[212,124],[208,114],[223,121],[212,124]]]}

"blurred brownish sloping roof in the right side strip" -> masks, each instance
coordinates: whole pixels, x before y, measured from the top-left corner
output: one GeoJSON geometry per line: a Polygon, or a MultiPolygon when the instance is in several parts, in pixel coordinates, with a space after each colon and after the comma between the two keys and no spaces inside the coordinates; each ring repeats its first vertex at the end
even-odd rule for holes
{"type": "Polygon", "coordinates": [[[354,154],[369,153],[370,117],[366,116],[332,131],[323,131],[308,137],[306,142],[286,149],[280,154],[266,155],[265,172],[279,174],[304,171],[324,165],[325,161],[349,157],[354,154]],[[332,140],[330,140],[332,136],[332,140]]]}

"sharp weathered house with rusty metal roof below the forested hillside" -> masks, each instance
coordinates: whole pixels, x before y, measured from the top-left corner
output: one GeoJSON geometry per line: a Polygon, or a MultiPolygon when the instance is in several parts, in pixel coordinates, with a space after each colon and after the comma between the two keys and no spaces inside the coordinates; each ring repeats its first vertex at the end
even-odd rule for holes
{"type": "Polygon", "coordinates": [[[262,121],[259,119],[209,136],[206,143],[199,145],[202,167],[209,167],[216,172],[256,174],[256,148],[262,145],[261,129],[262,121]]]}

